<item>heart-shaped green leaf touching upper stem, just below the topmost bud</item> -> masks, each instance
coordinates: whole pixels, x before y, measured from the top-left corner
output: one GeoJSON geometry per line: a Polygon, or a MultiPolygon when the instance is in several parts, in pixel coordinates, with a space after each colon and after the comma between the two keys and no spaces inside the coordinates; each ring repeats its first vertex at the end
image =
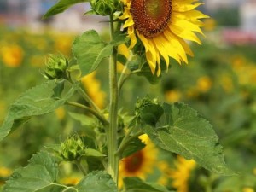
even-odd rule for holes
{"type": "Polygon", "coordinates": [[[76,38],[72,49],[82,75],[96,70],[102,59],[112,54],[113,46],[114,44],[103,42],[95,30],[84,32],[76,38]]]}

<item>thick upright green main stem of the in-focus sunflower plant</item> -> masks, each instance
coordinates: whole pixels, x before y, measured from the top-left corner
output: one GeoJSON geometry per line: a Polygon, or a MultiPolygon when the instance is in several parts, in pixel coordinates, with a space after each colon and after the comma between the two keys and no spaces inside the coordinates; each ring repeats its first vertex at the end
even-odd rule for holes
{"type": "MultiPolygon", "coordinates": [[[[110,18],[110,37],[113,40],[113,15],[110,18]]],[[[113,181],[118,184],[119,156],[116,154],[118,148],[118,78],[117,78],[117,49],[113,48],[113,54],[109,60],[109,126],[107,129],[108,145],[108,173],[113,177],[113,181]]]]}

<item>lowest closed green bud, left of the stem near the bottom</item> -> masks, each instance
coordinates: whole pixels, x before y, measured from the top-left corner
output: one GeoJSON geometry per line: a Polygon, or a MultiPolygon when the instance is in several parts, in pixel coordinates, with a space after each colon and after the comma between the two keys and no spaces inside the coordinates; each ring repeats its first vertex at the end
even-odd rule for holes
{"type": "Polygon", "coordinates": [[[78,160],[84,155],[84,142],[79,135],[68,137],[64,143],[61,143],[61,156],[64,160],[78,160]]]}

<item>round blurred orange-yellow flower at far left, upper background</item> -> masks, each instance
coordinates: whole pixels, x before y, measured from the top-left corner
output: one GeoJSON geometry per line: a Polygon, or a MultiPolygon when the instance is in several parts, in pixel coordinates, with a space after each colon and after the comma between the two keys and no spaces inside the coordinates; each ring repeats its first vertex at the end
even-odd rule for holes
{"type": "Polygon", "coordinates": [[[5,45],[1,48],[3,64],[8,67],[19,67],[23,60],[23,50],[17,44],[5,45]]]}

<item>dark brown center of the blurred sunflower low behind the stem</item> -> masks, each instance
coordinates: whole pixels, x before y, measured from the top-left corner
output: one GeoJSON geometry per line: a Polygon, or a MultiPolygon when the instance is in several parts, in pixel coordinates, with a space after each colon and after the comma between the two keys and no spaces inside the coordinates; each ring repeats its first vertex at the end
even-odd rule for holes
{"type": "Polygon", "coordinates": [[[135,154],[125,158],[125,171],[126,172],[137,172],[143,166],[144,154],[142,151],[138,151],[135,154]]]}

